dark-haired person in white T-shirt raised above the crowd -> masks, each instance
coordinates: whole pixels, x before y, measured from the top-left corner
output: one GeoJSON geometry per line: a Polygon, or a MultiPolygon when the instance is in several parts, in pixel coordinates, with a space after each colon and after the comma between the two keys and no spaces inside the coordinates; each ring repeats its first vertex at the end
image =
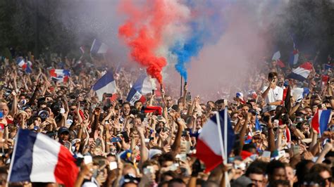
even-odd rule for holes
{"type": "Polygon", "coordinates": [[[269,72],[268,82],[269,86],[264,86],[262,90],[262,98],[265,99],[267,105],[282,105],[283,89],[277,86],[278,81],[277,72],[269,72]]]}

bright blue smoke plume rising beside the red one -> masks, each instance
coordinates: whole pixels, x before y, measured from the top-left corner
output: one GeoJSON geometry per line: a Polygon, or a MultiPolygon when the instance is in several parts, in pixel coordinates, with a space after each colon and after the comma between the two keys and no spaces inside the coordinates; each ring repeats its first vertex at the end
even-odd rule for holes
{"type": "Polygon", "coordinates": [[[199,13],[197,18],[189,23],[190,37],[187,37],[185,41],[178,41],[170,49],[171,53],[178,57],[175,69],[185,81],[187,81],[187,64],[190,63],[192,57],[198,56],[199,51],[204,46],[204,41],[214,44],[223,34],[225,28],[225,20],[222,18],[222,4],[216,4],[215,1],[205,1],[204,3],[202,1],[200,5],[189,1],[187,4],[202,14],[199,13]]]}

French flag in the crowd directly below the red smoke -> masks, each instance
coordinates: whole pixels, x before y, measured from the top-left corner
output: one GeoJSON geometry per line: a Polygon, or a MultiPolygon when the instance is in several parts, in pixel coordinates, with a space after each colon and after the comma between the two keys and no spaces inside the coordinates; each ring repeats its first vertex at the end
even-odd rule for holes
{"type": "Polygon", "coordinates": [[[151,93],[152,90],[156,90],[154,79],[148,77],[146,74],[142,74],[130,89],[126,101],[131,105],[134,105],[136,101],[142,101],[142,103],[144,103],[146,101],[144,95],[151,93]]]}

